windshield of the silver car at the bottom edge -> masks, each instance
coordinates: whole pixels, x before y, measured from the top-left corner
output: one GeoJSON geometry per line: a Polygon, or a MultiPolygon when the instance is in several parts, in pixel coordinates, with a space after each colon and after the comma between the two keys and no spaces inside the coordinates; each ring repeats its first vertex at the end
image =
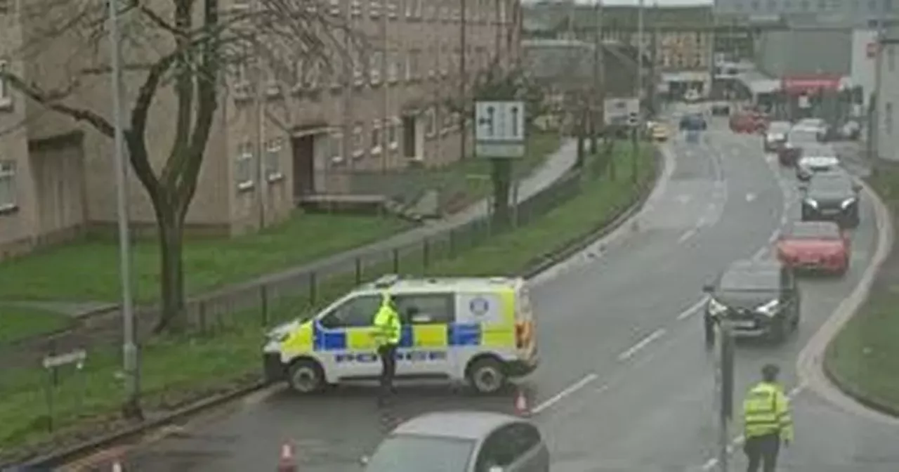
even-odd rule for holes
{"type": "Polygon", "coordinates": [[[378,446],[366,472],[465,472],[475,441],[395,435],[378,446]]]}

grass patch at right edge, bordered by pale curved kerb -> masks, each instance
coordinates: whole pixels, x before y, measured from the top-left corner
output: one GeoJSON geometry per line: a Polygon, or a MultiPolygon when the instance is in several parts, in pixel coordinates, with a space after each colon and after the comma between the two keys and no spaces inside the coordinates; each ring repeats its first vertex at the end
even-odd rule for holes
{"type": "MultiPolygon", "coordinates": [[[[899,211],[899,167],[879,169],[871,186],[899,211]]],[[[827,346],[824,369],[847,394],[899,415],[899,241],[877,274],[868,300],[827,346]]]]}

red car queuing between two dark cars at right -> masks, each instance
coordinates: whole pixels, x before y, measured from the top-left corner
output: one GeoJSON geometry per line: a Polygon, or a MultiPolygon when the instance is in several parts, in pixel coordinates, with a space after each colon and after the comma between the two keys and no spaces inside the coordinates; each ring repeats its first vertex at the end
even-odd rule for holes
{"type": "Polygon", "coordinates": [[[780,236],[778,259],[796,270],[843,274],[849,269],[850,239],[833,221],[800,221],[780,236]]]}

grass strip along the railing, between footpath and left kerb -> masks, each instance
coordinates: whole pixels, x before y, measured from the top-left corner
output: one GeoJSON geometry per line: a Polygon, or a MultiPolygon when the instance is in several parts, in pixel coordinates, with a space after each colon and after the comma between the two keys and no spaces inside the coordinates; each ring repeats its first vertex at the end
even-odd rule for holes
{"type": "MultiPolygon", "coordinates": [[[[435,259],[427,272],[444,275],[517,272],[535,256],[592,232],[636,199],[638,190],[630,179],[629,158],[628,152],[616,156],[619,163],[616,182],[610,183],[606,178],[585,181],[580,194],[529,225],[489,238],[454,258],[435,259]]],[[[646,152],[640,159],[640,180],[646,182],[651,177],[654,157],[646,152]]],[[[355,283],[352,274],[322,282],[318,290],[320,300],[333,299],[355,283]]],[[[298,307],[303,306],[307,306],[304,299],[283,300],[270,307],[271,320],[298,316],[298,307]]],[[[161,338],[147,343],[142,352],[145,405],[150,408],[170,405],[183,398],[184,391],[194,395],[209,392],[231,379],[257,372],[263,340],[260,319],[259,313],[248,312],[214,334],[161,338]]],[[[55,423],[72,427],[84,424],[85,417],[114,411],[122,394],[121,382],[115,376],[118,369],[116,352],[91,352],[82,375],[68,375],[58,386],[55,423]]],[[[0,457],[4,456],[4,447],[6,454],[10,454],[13,448],[20,450],[29,443],[49,440],[42,389],[45,378],[40,370],[7,372],[0,378],[0,397],[4,398],[0,403],[0,457]]]]}

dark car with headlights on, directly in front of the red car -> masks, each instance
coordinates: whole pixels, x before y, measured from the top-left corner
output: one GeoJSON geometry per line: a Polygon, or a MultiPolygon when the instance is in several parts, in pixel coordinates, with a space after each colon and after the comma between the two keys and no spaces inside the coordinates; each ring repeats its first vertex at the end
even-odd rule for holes
{"type": "Polygon", "coordinates": [[[801,302],[793,270],[779,261],[738,261],[703,288],[706,340],[727,323],[738,337],[783,341],[799,325],[801,302]]]}

